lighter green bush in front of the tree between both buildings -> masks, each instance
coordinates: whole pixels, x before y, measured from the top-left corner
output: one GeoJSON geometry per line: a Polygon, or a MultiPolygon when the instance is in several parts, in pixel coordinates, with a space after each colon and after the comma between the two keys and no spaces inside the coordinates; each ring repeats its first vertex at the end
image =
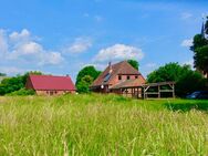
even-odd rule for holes
{"type": "Polygon", "coordinates": [[[77,83],[76,87],[79,93],[89,93],[90,85],[93,83],[93,77],[90,75],[85,75],[82,80],[77,83]]]}

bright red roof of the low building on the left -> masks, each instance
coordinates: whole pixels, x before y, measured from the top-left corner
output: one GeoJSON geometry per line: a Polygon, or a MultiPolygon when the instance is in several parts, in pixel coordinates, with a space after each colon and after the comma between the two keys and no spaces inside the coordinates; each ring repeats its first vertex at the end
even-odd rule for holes
{"type": "Polygon", "coordinates": [[[75,91],[70,76],[30,75],[34,90],[75,91]]]}

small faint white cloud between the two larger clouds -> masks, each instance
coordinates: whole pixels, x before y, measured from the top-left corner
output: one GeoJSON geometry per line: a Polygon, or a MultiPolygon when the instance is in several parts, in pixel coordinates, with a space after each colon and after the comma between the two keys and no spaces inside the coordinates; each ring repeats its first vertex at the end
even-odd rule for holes
{"type": "Polygon", "coordinates": [[[69,46],[63,49],[64,53],[82,53],[92,46],[90,38],[76,38],[75,41],[69,46]]]}

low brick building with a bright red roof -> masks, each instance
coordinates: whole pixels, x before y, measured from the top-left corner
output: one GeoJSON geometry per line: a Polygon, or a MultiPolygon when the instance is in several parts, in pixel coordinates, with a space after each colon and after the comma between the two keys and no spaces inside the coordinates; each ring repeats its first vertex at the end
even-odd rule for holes
{"type": "Polygon", "coordinates": [[[70,76],[29,75],[25,89],[34,90],[38,95],[60,95],[75,93],[70,76]]]}

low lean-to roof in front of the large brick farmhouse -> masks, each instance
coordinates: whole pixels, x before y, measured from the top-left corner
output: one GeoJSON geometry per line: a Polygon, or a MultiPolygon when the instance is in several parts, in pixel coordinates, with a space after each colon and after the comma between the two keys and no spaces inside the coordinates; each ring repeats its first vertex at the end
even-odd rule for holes
{"type": "Polygon", "coordinates": [[[123,81],[116,85],[113,85],[112,87],[110,89],[122,89],[122,87],[131,87],[131,86],[141,86],[145,84],[145,79],[139,75],[138,79],[135,79],[135,80],[126,80],[126,81],[123,81]]]}

